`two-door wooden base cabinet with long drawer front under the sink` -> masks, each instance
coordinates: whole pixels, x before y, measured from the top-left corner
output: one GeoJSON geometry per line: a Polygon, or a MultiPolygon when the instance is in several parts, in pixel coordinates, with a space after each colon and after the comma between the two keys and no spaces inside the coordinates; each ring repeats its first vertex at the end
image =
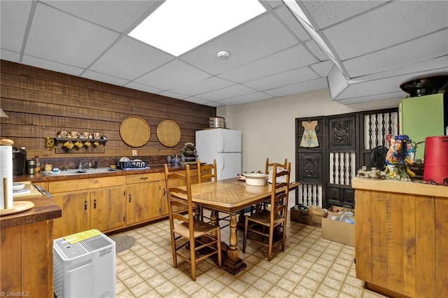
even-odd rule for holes
{"type": "Polygon", "coordinates": [[[62,208],[62,218],[54,222],[55,238],[125,227],[125,176],[54,181],[48,188],[62,208]]]}

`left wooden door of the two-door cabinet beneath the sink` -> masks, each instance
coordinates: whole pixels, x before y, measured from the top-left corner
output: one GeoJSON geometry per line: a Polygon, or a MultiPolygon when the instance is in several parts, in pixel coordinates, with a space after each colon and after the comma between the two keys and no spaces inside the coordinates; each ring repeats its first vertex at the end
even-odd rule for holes
{"type": "Polygon", "coordinates": [[[62,209],[53,223],[55,239],[90,229],[90,192],[53,194],[53,201],[62,209]]]}

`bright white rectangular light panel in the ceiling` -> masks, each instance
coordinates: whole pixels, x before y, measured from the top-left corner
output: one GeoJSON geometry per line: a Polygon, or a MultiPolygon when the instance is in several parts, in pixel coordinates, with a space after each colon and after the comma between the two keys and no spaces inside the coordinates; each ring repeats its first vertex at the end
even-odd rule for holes
{"type": "Polygon", "coordinates": [[[129,36],[179,56],[265,11],[258,0],[167,0],[129,36]]]}

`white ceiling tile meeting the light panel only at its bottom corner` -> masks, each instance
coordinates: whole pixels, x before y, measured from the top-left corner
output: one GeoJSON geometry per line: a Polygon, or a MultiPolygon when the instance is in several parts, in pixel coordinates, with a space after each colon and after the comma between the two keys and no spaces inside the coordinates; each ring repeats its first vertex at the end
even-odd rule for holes
{"type": "Polygon", "coordinates": [[[161,90],[172,90],[209,77],[208,73],[175,59],[135,81],[161,90]]]}

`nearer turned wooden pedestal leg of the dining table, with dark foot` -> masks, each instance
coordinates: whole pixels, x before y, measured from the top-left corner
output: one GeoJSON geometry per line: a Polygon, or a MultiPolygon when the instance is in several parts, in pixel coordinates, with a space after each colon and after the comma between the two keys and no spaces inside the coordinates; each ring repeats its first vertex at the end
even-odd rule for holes
{"type": "Polygon", "coordinates": [[[229,246],[226,249],[223,258],[223,268],[231,274],[237,274],[239,271],[247,267],[247,264],[238,257],[237,248],[237,213],[230,214],[230,236],[229,246]]]}

